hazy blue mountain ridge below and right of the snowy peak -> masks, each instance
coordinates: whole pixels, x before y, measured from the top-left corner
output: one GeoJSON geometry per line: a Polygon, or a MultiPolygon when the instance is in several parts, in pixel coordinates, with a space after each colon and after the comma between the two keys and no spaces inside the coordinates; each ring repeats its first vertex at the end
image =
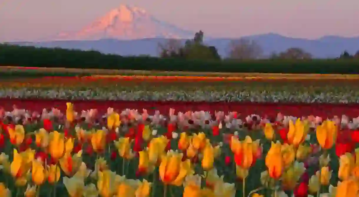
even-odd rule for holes
{"type": "MultiPolygon", "coordinates": [[[[311,53],[314,58],[335,58],[343,51],[354,54],[359,50],[359,37],[344,38],[338,36],[326,36],[319,39],[289,38],[279,34],[261,34],[243,37],[255,40],[261,45],[264,55],[269,56],[273,52],[282,52],[288,48],[298,47],[311,53]]],[[[36,47],[60,47],[68,49],[96,50],[102,53],[120,54],[122,56],[150,55],[158,56],[158,44],[165,43],[166,38],[146,39],[99,39],[99,40],[58,40],[49,42],[10,42],[10,44],[33,45],[36,47]]],[[[181,39],[183,44],[186,39],[181,39]]],[[[228,53],[228,44],[232,38],[205,39],[204,43],[215,46],[222,57],[228,53]]]]}

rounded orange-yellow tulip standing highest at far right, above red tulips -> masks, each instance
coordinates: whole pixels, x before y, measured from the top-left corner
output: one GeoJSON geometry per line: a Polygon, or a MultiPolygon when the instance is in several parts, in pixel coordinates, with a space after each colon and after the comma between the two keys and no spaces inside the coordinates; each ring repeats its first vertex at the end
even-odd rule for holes
{"type": "Polygon", "coordinates": [[[337,128],[334,121],[325,120],[322,125],[317,126],[317,140],[324,149],[330,149],[336,140],[337,128]]]}

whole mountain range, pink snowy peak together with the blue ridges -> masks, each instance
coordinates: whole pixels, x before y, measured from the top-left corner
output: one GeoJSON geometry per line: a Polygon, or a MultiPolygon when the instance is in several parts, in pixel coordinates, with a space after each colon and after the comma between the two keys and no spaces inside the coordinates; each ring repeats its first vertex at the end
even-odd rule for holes
{"type": "MultiPolygon", "coordinates": [[[[50,39],[55,41],[10,42],[10,44],[96,50],[122,56],[143,54],[158,56],[159,43],[165,43],[166,39],[181,39],[184,44],[186,39],[193,39],[194,35],[195,32],[183,30],[156,19],[142,8],[120,5],[79,31],[62,32],[50,39]]],[[[255,40],[261,45],[265,56],[273,52],[283,52],[292,47],[302,48],[311,53],[314,58],[334,58],[340,56],[345,50],[351,54],[359,50],[359,37],[324,36],[311,40],[268,33],[244,38],[255,40]]],[[[206,32],[204,32],[204,39],[205,44],[216,47],[222,57],[227,56],[228,45],[233,40],[232,38],[210,38],[206,32]]]]}

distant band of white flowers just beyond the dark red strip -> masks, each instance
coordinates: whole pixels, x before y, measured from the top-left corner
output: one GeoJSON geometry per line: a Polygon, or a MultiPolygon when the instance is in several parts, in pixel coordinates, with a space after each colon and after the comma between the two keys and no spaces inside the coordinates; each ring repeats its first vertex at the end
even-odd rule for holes
{"type": "Polygon", "coordinates": [[[249,101],[302,103],[359,103],[359,92],[298,92],[298,91],[142,91],[94,88],[85,91],[44,88],[2,88],[1,98],[47,98],[75,100],[124,101],[249,101]]]}

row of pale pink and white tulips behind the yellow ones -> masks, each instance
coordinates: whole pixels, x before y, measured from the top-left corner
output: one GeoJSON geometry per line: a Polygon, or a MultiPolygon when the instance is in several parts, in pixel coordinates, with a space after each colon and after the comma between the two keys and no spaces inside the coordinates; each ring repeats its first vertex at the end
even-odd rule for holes
{"type": "MultiPolygon", "coordinates": [[[[227,128],[233,131],[241,130],[244,122],[246,123],[255,123],[264,125],[266,123],[274,124],[274,120],[267,119],[266,117],[261,117],[256,114],[247,115],[245,119],[240,119],[238,117],[237,112],[228,112],[225,113],[223,111],[215,112],[212,116],[210,112],[207,111],[187,111],[187,112],[178,112],[175,114],[174,109],[169,110],[168,115],[162,115],[159,111],[155,111],[153,115],[148,114],[147,110],[143,109],[143,112],[140,113],[138,110],[126,109],[120,112],[121,122],[129,122],[129,121],[151,121],[153,125],[161,125],[163,121],[169,121],[172,123],[176,123],[179,126],[186,127],[194,127],[201,126],[202,128],[209,129],[212,126],[218,126],[219,129],[227,128]],[[213,119],[215,117],[215,119],[213,119]],[[191,123],[190,121],[191,120],[191,123]],[[272,121],[272,122],[271,122],[272,121]]],[[[101,117],[108,117],[113,113],[112,108],[108,108],[107,113],[101,115],[101,117]]],[[[98,117],[98,111],[96,109],[83,110],[81,113],[75,112],[75,117],[84,117],[86,122],[91,122],[95,117],[98,117]]],[[[43,109],[41,113],[31,112],[25,109],[14,109],[13,111],[4,111],[0,109],[0,118],[4,118],[6,116],[13,117],[15,121],[18,121],[20,117],[25,117],[29,119],[31,117],[41,117],[42,119],[52,119],[53,117],[64,117],[64,114],[55,108],[52,108],[50,111],[43,109]]],[[[302,117],[294,117],[294,116],[284,116],[281,113],[278,113],[275,121],[280,122],[283,125],[288,125],[289,121],[296,121],[298,118],[301,120],[308,120],[309,126],[311,128],[316,128],[317,125],[320,125],[323,122],[322,117],[314,117],[314,116],[302,116],[302,117]]],[[[332,119],[329,119],[335,122],[335,124],[340,125],[342,128],[348,129],[356,129],[359,127],[359,117],[349,119],[348,116],[342,115],[334,116],[332,119]]],[[[153,132],[157,132],[157,130],[153,130],[153,132]]],[[[236,133],[236,132],[235,132],[236,133]]],[[[155,135],[155,134],[154,134],[155,135]]],[[[176,136],[177,137],[177,136],[176,136]]]]}

